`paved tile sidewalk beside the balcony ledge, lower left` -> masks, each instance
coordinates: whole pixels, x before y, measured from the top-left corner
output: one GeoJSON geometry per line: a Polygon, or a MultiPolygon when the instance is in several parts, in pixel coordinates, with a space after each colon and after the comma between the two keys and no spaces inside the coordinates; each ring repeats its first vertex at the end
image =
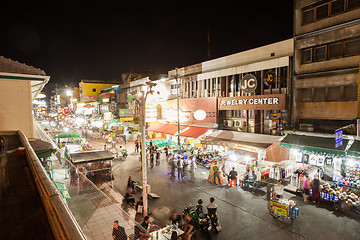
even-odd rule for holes
{"type": "Polygon", "coordinates": [[[53,170],[54,180],[64,183],[67,187],[71,197],[67,200],[68,206],[89,239],[112,239],[114,220],[119,221],[128,236],[133,235],[136,224],[135,209],[124,208],[122,196],[111,189],[109,185],[102,186],[108,196],[86,182],[83,191],[78,193],[77,187],[70,185],[67,169],[62,168],[57,161],[53,161],[53,170]]]}

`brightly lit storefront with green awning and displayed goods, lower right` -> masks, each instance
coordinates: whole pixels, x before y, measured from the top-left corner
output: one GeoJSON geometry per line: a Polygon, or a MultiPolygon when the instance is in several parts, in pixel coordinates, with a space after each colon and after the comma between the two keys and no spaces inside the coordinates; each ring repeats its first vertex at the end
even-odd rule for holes
{"type": "Polygon", "coordinates": [[[280,177],[276,173],[271,176],[290,181],[287,188],[293,191],[303,189],[305,175],[310,180],[317,177],[322,181],[323,200],[335,202],[342,208],[350,208],[355,202],[359,204],[360,142],[351,138],[342,141],[342,146],[336,148],[332,136],[288,134],[280,142],[282,147],[290,149],[287,166],[275,166],[279,167],[280,177]]]}

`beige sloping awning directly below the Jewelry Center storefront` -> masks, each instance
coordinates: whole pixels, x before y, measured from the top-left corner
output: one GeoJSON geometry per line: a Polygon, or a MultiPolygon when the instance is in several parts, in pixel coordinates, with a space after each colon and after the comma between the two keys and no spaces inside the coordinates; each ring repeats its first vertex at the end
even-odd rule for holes
{"type": "Polygon", "coordinates": [[[241,145],[248,145],[259,148],[268,148],[270,145],[272,145],[279,139],[280,139],[279,136],[273,136],[273,135],[218,130],[210,134],[205,139],[205,141],[206,142],[226,141],[226,142],[238,143],[241,145]]]}

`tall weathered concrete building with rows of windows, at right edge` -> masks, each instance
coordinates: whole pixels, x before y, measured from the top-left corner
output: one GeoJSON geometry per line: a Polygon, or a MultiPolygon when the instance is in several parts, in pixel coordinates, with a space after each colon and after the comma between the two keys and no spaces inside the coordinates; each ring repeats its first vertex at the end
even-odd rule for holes
{"type": "Polygon", "coordinates": [[[360,1],[295,0],[294,111],[302,130],[331,132],[356,119],[360,1]]]}

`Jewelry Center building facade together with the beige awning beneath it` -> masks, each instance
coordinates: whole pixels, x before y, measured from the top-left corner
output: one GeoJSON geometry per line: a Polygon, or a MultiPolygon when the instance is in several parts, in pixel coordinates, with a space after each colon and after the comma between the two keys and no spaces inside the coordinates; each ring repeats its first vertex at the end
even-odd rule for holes
{"type": "Polygon", "coordinates": [[[272,149],[279,155],[278,135],[291,122],[293,45],[288,39],[169,71],[172,98],[216,99],[215,132],[204,144],[226,145],[258,159],[277,144],[272,149]]]}

